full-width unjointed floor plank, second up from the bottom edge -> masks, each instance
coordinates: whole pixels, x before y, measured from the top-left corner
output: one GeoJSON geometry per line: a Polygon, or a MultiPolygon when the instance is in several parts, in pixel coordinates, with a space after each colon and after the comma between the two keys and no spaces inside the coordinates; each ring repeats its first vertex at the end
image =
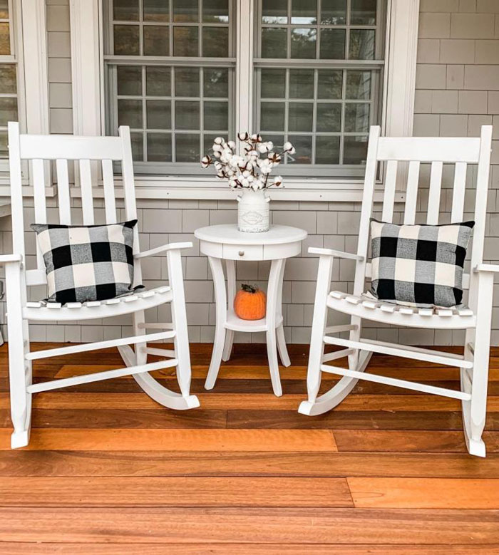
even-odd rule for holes
{"type": "Polygon", "coordinates": [[[4,541],[498,544],[499,512],[444,509],[0,509],[4,541]],[[26,526],[29,522],[29,526],[26,526]]]}

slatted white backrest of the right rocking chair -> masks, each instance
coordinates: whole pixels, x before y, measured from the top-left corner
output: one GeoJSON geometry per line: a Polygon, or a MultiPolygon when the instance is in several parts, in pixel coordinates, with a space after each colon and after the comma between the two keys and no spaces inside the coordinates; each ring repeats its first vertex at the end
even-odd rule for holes
{"type": "MultiPolygon", "coordinates": [[[[451,222],[463,221],[467,166],[468,164],[478,165],[471,268],[475,268],[482,262],[491,147],[491,125],[482,126],[480,138],[380,137],[380,128],[378,126],[371,127],[357,251],[357,254],[364,257],[364,261],[356,266],[354,294],[361,294],[364,291],[366,277],[371,277],[371,264],[368,264],[366,259],[369,247],[369,219],[373,209],[379,162],[386,162],[384,202],[381,215],[383,222],[392,222],[393,220],[398,162],[408,162],[404,224],[413,224],[415,221],[421,162],[431,163],[427,224],[439,223],[443,164],[455,164],[451,222]]],[[[472,289],[474,281],[473,271],[469,276],[463,276],[463,286],[465,287],[469,286],[472,289]]]]}

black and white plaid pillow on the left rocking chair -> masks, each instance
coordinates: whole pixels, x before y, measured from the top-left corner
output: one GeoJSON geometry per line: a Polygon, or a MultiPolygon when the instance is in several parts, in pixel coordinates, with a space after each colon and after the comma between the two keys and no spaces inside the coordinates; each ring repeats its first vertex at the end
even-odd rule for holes
{"type": "Polygon", "coordinates": [[[31,224],[45,261],[48,301],[103,301],[130,292],[135,224],[31,224]]]}

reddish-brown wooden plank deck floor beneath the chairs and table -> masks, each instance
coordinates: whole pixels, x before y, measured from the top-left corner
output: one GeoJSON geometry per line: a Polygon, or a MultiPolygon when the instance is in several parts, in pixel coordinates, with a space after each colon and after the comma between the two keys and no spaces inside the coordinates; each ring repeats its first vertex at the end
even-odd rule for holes
{"type": "MultiPolygon", "coordinates": [[[[291,347],[279,399],[261,346],[237,346],[205,392],[210,351],[192,345],[201,408],[160,407],[133,378],[39,393],[31,443],[11,451],[0,348],[0,553],[499,554],[498,349],[485,460],[465,452],[458,401],[364,382],[306,417],[306,348],[291,347]]],[[[34,375],[119,365],[101,351],[34,375]]],[[[456,369],[374,356],[369,370],[458,388],[456,369]]]]}

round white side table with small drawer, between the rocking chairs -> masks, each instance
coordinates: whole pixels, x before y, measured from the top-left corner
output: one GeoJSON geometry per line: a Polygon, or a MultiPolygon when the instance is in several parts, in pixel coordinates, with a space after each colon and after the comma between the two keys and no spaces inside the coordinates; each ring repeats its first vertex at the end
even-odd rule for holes
{"type": "Polygon", "coordinates": [[[228,361],[232,351],[235,331],[264,331],[267,334],[270,379],[275,395],[282,395],[277,350],[284,366],[289,366],[289,356],[282,326],[282,279],[287,258],[296,256],[307,237],[304,229],[274,225],[268,232],[244,233],[236,224],[213,225],[196,229],[194,235],[200,240],[200,251],[208,256],[215,286],[216,331],[212,360],[205,388],[212,389],[217,380],[222,359],[228,361]],[[227,269],[227,292],[222,266],[227,269]],[[270,260],[269,284],[267,286],[267,313],[261,320],[242,320],[232,306],[236,294],[236,260],[270,260]],[[227,308],[228,299],[228,308],[227,308]]]}

